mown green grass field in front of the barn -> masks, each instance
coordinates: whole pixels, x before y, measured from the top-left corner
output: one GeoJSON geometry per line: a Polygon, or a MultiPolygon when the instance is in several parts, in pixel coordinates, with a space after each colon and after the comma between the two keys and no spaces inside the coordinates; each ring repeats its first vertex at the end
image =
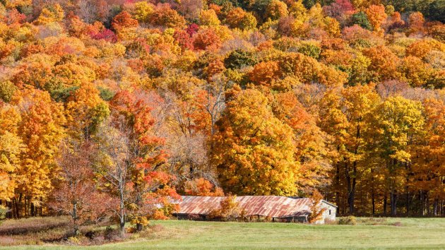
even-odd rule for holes
{"type": "MultiPolygon", "coordinates": [[[[444,249],[445,218],[359,218],[351,225],[267,222],[152,221],[163,230],[149,239],[82,249],[444,249]]],[[[79,249],[20,246],[8,249],[79,249]]],[[[0,248],[1,249],[1,248],[0,248]]]]}

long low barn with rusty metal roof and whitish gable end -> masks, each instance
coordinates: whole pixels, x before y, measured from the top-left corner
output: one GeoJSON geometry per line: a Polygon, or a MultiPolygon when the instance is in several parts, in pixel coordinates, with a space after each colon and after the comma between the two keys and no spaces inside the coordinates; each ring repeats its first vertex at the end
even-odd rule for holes
{"type": "MultiPolygon", "coordinates": [[[[218,209],[225,197],[182,196],[180,210],[174,213],[179,219],[206,220],[211,210],[218,209]]],[[[237,203],[244,209],[247,218],[268,218],[275,222],[307,222],[310,215],[310,198],[285,196],[237,196],[237,203]]],[[[337,206],[322,200],[319,204],[326,208],[319,223],[336,220],[337,206]]]]}

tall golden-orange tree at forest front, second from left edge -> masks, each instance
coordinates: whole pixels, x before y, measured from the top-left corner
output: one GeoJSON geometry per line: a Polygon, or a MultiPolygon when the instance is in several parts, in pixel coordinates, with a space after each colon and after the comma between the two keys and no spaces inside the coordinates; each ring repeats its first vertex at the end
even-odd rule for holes
{"type": "MultiPolygon", "coordinates": [[[[25,145],[25,153],[20,155],[22,165],[18,172],[16,203],[20,203],[24,195],[31,204],[31,215],[35,215],[36,207],[42,205],[42,199],[52,190],[52,180],[57,176],[54,159],[65,133],[64,109],[54,103],[48,93],[35,89],[23,90],[11,103],[20,110],[22,120],[18,134],[25,145]]],[[[18,211],[16,213],[18,215],[18,211]]]]}

